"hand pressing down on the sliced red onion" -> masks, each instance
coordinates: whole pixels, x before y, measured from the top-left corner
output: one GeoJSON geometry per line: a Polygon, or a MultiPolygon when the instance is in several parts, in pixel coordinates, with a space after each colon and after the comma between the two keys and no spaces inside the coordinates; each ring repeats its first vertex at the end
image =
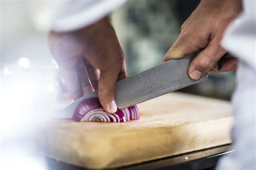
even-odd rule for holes
{"type": "Polygon", "coordinates": [[[117,80],[126,77],[125,56],[107,18],[73,32],[50,32],[50,51],[74,100],[98,90],[103,108],[117,110],[117,80]]]}

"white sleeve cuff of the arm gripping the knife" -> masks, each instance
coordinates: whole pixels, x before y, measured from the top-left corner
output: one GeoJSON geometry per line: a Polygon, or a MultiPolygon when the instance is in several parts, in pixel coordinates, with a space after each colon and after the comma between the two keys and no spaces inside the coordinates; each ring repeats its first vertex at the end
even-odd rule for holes
{"type": "Polygon", "coordinates": [[[228,27],[222,45],[227,51],[256,68],[256,1],[245,0],[243,11],[228,27]]]}

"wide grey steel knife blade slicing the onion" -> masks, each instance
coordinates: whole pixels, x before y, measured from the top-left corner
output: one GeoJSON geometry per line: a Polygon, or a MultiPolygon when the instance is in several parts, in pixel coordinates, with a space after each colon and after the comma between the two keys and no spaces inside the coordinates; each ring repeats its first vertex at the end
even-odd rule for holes
{"type": "MultiPolygon", "coordinates": [[[[115,95],[117,107],[124,109],[134,104],[139,104],[172,91],[191,86],[192,84],[206,81],[207,73],[204,73],[199,80],[192,80],[188,76],[188,67],[195,56],[196,53],[193,53],[182,59],[169,60],[158,66],[119,80],[115,95]]],[[[91,97],[98,97],[97,91],[80,97],[68,105],[61,116],[58,115],[58,117],[72,117],[77,105],[91,97]]]]}

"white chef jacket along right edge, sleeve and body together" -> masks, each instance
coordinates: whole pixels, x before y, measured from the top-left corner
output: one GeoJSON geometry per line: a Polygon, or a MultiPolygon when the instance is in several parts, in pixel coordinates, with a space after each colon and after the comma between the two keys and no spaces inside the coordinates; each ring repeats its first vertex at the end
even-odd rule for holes
{"type": "Polygon", "coordinates": [[[232,95],[232,149],[219,161],[220,169],[256,169],[256,1],[243,1],[243,12],[227,29],[222,45],[239,59],[237,86],[232,95]]]}

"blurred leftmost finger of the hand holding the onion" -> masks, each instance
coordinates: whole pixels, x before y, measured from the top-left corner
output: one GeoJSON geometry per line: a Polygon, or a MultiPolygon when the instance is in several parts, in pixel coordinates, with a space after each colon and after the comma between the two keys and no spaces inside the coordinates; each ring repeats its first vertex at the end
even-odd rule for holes
{"type": "MultiPolygon", "coordinates": [[[[72,62],[69,62],[72,63],[72,62]]],[[[75,64],[59,64],[59,70],[73,100],[83,96],[75,64]]]]}

